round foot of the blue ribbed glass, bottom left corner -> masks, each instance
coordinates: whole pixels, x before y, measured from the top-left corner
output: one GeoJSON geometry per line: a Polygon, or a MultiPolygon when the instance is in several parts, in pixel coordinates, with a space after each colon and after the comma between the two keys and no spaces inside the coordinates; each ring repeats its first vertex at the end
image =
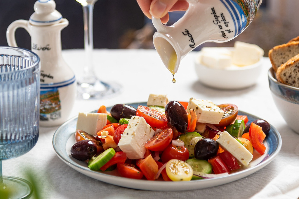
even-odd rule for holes
{"type": "Polygon", "coordinates": [[[27,180],[12,176],[3,176],[3,185],[0,189],[7,190],[10,199],[30,198],[33,192],[32,185],[27,180]]]}

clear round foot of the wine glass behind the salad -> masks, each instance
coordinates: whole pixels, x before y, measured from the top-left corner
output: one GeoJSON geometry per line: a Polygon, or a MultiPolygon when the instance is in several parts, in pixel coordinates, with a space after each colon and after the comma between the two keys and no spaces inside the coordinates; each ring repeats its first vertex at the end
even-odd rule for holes
{"type": "Polygon", "coordinates": [[[104,99],[120,93],[121,86],[113,82],[96,80],[93,83],[77,82],[77,97],[80,99],[104,99]]]}

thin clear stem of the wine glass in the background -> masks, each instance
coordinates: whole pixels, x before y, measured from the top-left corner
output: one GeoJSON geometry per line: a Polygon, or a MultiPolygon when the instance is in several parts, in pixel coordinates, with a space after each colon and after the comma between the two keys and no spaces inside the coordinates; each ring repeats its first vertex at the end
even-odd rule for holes
{"type": "Polygon", "coordinates": [[[94,83],[96,76],[94,75],[94,68],[92,65],[93,54],[93,8],[94,2],[83,6],[83,21],[84,21],[84,49],[86,59],[84,63],[83,82],[94,83]]]}

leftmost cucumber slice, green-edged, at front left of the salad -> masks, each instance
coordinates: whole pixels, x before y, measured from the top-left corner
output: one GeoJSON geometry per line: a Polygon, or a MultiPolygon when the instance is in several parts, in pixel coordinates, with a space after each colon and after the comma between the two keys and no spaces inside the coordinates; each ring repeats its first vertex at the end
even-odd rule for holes
{"type": "Polygon", "coordinates": [[[88,162],[88,167],[91,170],[99,170],[102,166],[104,166],[113,156],[115,155],[115,150],[113,148],[109,148],[100,155],[98,155],[94,160],[88,162]]]}

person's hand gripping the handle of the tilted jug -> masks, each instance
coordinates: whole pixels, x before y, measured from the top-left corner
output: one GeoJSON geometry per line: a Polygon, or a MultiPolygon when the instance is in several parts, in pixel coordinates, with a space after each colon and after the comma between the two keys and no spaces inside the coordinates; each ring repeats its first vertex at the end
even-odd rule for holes
{"type": "Polygon", "coordinates": [[[166,24],[169,20],[168,12],[185,11],[189,7],[186,0],[137,0],[142,12],[148,18],[160,18],[166,24]]]}

